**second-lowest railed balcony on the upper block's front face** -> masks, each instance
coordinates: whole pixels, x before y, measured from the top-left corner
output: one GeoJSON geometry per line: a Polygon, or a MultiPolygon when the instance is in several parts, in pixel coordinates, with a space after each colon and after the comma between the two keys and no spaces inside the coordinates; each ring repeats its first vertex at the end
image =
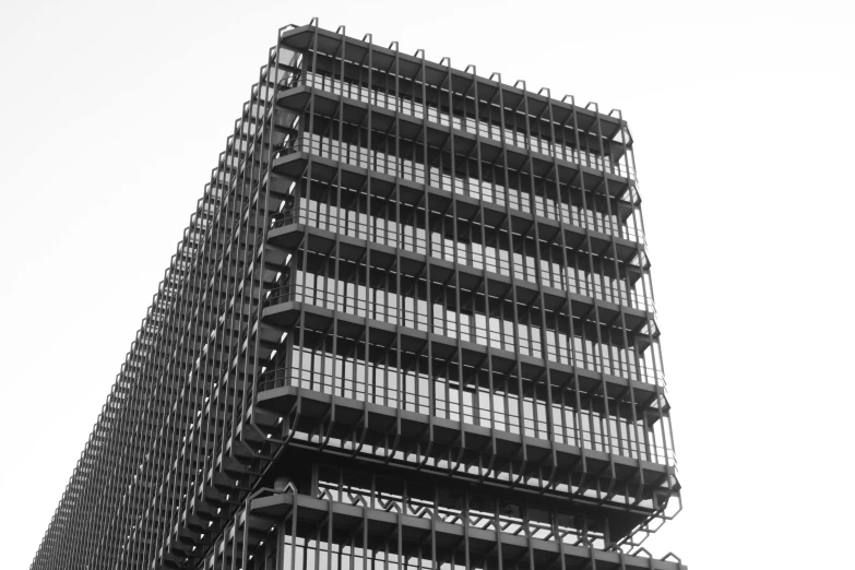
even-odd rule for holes
{"type": "Polygon", "coordinates": [[[526,378],[538,378],[548,360],[554,377],[568,375],[572,378],[575,372],[580,381],[585,378],[594,382],[589,389],[593,389],[604,378],[615,384],[616,393],[622,392],[628,385],[644,392],[661,390],[664,393],[663,371],[652,363],[648,364],[641,355],[624,353],[620,358],[615,358],[607,356],[607,351],[580,349],[571,337],[565,339],[566,343],[550,339],[555,331],[544,335],[547,337],[544,345],[541,334],[533,330],[522,333],[524,329],[521,326],[514,333],[512,324],[508,325],[507,332],[502,332],[506,330],[502,324],[501,329],[495,329],[492,325],[496,319],[492,317],[488,325],[486,318],[440,311],[428,323],[427,314],[420,310],[421,304],[413,299],[390,304],[368,301],[365,292],[358,293],[353,284],[348,285],[352,287],[341,287],[337,292],[334,285],[329,290],[299,284],[278,287],[269,293],[263,313],[282,329],[290,329],[297,319],[302,318],[317,331],[326,330],[335,314],[340,331],[353,339],[360,337],[366,326],[369,326],[376,330],[377,342],[392,343],[401,334],[408,345],[407,349],[414,352],[418,352],[425,342],[430,342],[435,345],[435,356],[438,358],[451,357],[462,348],[463,353],[472,353],[472,363],[467,364],[483,363],[485,354],[491,356],[495,370],[509,370],[519,358],[526,378]]]}

